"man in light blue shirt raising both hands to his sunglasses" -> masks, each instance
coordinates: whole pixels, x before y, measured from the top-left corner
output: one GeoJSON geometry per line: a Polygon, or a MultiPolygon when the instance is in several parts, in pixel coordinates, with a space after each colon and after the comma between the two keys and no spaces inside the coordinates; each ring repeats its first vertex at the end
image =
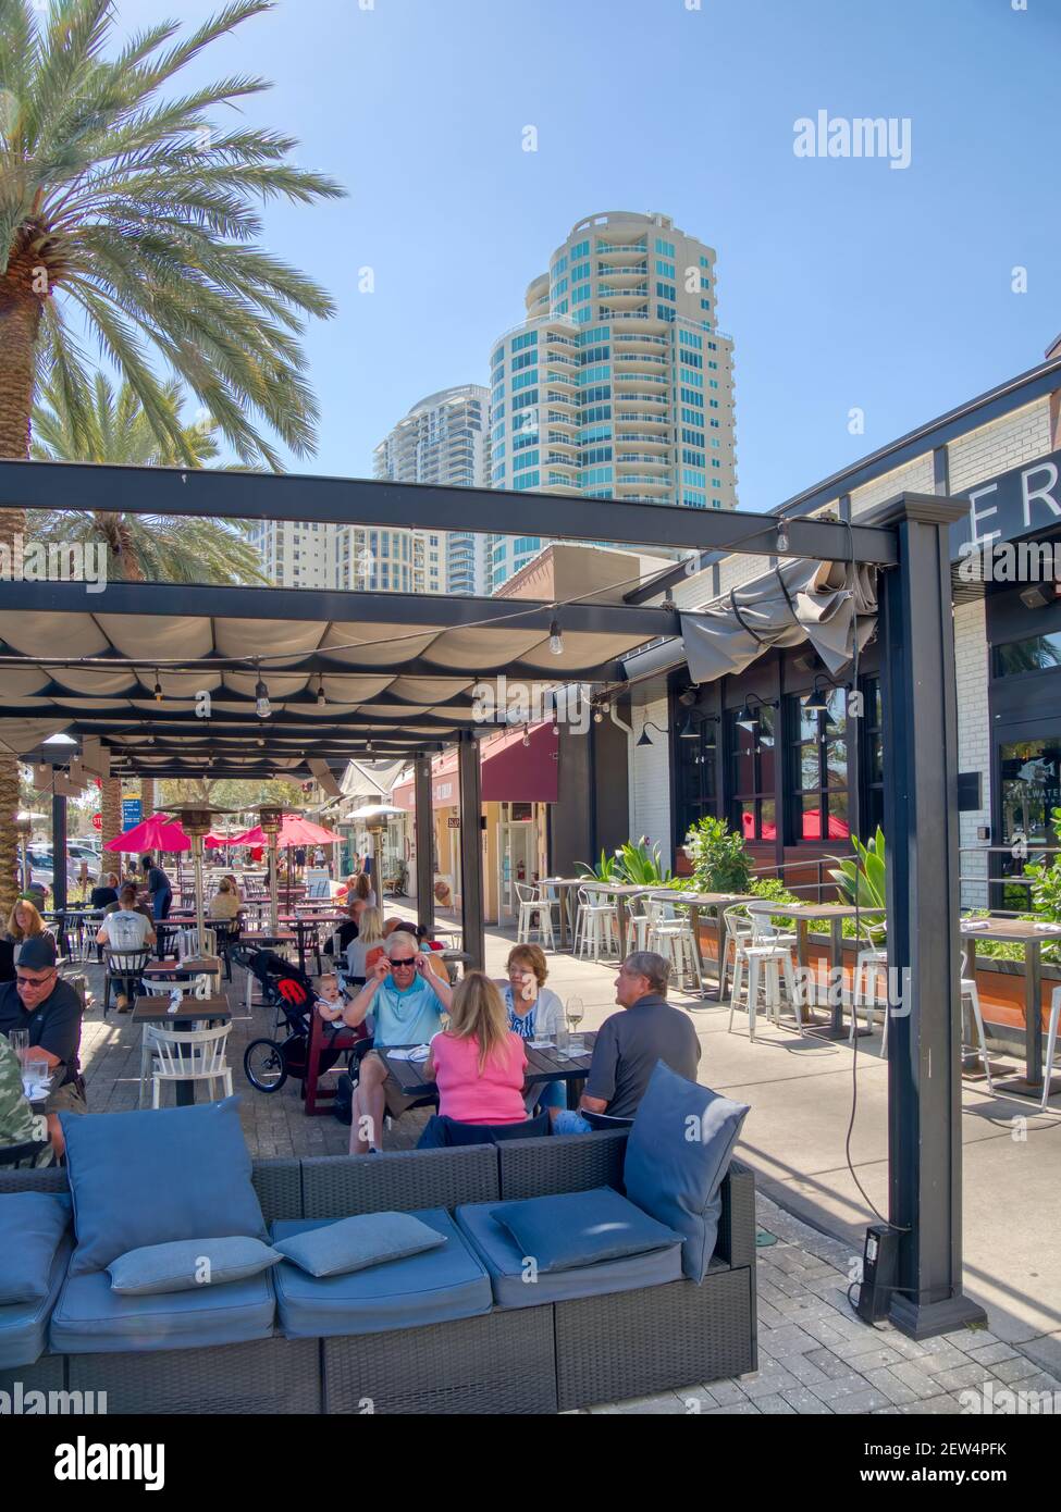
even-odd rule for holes
{"type": "MultiPolygon", "coordinates": [[[[404,930],[390,936],[386,951],[344,1012],[344,1021],[357,1028],[371,1013],[375,1021],[372,1043],[383,1049],[389,1045],[428,1045],[442,1028],[442,1015],[450,1012],[450,984],[439,981],[422,951],[416,950],[416,940],[404,930]]],[[[354,1089],[350,1154],[365,1155],[380,1149],[384,1110],[392,1116],[404,1113],[415,1101],[401,1092],[380,1057],[369,1051],[354,1089]]]]}

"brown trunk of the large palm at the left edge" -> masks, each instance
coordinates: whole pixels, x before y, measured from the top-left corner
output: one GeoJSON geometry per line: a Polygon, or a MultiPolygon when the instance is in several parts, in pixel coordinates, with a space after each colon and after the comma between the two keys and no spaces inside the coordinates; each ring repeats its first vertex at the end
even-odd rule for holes
{"type": "MultiPolygon", "coordinates": [[[[33,411],[33,342],[41,324],[41,301],[18,278],[15,262],[0,278],[0,457],[29,457],[29,428],[33,411]],[[12,277],[14,275],[14,277],[12,277]]],[[[14,552],[15,538],[26,529],[23,510],[5,510],[0,497],[0,547],[14,552]]],[[[8,569],[14,570],[14,562],[8,569]]],[[[0,756],[0,916],[6,921],[18,897],[18,758],[0,756]]]]}

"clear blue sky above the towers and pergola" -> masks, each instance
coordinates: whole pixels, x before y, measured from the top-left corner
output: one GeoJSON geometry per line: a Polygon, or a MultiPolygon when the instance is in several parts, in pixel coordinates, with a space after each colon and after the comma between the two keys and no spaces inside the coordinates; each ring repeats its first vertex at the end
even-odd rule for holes
{"type": "MultiPolygon", "coordinates": [[[[266,215],[266,245],[339,305],[307,336],[321,429],[301,470],[369,475],[410,404],[484,383],[530,280],[602,210],[661,210],[717,249],[746,510],[1034,366],[1061,330],[1056,0],[366,5],[280,0],[197,68],[274,80],[247,116],[350,191],[266,215]],[[793,122],[819,110],[908,118],[910,166],[798,157],[793,122]]],[[[118,0],[130,30],[166,9],[218,6],[118,0]]]]}

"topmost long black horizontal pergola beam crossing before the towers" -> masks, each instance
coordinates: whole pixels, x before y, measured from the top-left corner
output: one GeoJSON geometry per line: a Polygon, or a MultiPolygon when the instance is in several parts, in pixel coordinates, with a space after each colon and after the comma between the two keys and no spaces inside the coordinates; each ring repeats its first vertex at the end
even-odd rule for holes
{"type": "MultiPolygon", "coordinates": [[[[319,520],[395,529],[504,531],[621,546],[693,547],[775,555],[776,526],[761,514],[627,503],[498,488],[442,488],[369,478],[313,478],[177,467],[103,467],[86,463],[0,463],[0,500],[23,510],[121,510],[222,520],[319,520]]],[[[808,520],[790,531],[792,556],[845,559],[852,541],[835,526],[808,520]]],[[[895,562],[888,532],[857,528],[860,561],[895,562]]],[[[256,590],[251,590],[256,591],[256,590]]],[[[389,597],[389,596],[384,596],[389,597]]],[[[425,596],[430,597],[430,596],[425,596]]],[[[459,603],[459,599],[446,599],[459,603]]]]}

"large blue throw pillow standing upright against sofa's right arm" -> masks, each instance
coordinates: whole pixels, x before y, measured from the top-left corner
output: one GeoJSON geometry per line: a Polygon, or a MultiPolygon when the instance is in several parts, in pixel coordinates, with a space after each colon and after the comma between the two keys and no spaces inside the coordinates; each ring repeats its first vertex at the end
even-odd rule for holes
{"type": "Polygon", "coordinates": [[[714,1253],[720,1185],[748,1114],[710,1087],[657,1061],[627,1139],[627,1196],[683,1237],[681,1269],[701,1282],[714,1253]]]}

